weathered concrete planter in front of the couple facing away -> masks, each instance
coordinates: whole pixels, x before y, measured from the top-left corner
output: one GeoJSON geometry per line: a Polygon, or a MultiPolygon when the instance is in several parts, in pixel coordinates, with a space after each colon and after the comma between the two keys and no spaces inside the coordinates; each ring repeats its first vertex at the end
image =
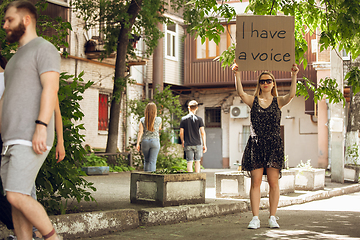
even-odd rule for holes
{"type": "Polygon", "coordinates": [[[206,174],[131,173],[131,203],[178,206],[205,203],[206,174]]]}

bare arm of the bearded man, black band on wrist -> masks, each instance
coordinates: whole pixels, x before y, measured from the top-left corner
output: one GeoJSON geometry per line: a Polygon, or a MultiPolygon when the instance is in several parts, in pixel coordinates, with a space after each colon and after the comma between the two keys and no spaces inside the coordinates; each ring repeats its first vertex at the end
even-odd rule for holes
{"type": "MultiPolygon", "coordinates": [[[[40,75],[41,85],[43,87],[40,100],[40,112],[37,120],[46,124],[50,122],[54,113],[57,94],[59,90],[59,73],[45,72],[40,75]]],[[[34,123],[35,124],[35,123],[34,123]]],[[[32,139],[34,152],[42,154],[47,150],[46,146],[47,131],[46,126],[36,124],[35,132],[32,139]]]]}

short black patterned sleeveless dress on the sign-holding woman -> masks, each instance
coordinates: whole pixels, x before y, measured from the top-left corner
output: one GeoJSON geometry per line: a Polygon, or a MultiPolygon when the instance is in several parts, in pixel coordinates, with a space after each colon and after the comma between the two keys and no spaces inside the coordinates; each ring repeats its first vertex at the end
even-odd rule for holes
{"type": "Polygon", "coordinates": [[[262,108],[257,96],[250,112],[250,137],[242,158],[242,169],[248,172],[264,168],[284,167],[284,148],[280,137],[281,111],[277,98],[274,97],[270,106],[262,108]]]}

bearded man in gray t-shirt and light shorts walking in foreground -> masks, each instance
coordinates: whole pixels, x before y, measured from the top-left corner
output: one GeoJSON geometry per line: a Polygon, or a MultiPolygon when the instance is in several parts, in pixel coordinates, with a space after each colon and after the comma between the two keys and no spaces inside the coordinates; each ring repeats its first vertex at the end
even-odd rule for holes
{"type": "Polygon", "coordinates": [[[59,239],[45,209],[31,196],[36,176],[54,141],[54,110],[59,90],[60,55],[36,34],[37,12],[27,1],[5,8],[9,43],[19,48],[5,69],[5,92],[0,101],[1,178],[12,206],[19,240],[32,239],[35,226],[44,239],[59,239]]]}

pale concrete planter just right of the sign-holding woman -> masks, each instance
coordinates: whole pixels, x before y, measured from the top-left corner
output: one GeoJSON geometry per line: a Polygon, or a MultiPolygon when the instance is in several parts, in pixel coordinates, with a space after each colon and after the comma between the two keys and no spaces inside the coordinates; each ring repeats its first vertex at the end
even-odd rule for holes
{"type": "Polygon", "coordinates": [[[314,191],[324,189],[325,186],[325,169],[313,168],[310,170],[301,168],[291,168],[294,171],[295,190],[314,191]]]}

